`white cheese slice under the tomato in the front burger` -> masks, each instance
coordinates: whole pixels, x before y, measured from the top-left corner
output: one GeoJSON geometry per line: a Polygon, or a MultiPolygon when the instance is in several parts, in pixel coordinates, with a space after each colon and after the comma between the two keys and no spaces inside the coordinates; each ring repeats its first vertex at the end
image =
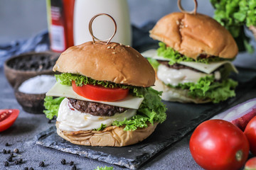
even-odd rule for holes
{"type": "Polygon", "coordinates": [[[136,96],[129,95],[120,101],[112,101],[112,102],[94,101],[76,94],[75,91],[73,91],[72,86],[61,85],[58,82],[50,89],[50,91],[46,93],[46,96],[60,96],[60,97],[67,97],[67,98],[75,98],[81,101],[92,101],[92,102],[103,103],[103,104],[112,105],[112,106],[118,106],[122,108],[133,108],[133,109],[138,109],[139,106],[142,104],[142,101],[144,100],[144,98],[139,98],[136,96]]]}

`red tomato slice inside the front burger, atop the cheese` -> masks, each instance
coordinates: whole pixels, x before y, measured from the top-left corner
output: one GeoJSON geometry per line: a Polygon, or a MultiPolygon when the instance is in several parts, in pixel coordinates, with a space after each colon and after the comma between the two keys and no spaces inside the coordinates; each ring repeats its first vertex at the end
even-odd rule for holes
{"type": "Polygon", "coordinates": [[[95,101],[119,101],[126,98],[129,94],[129,89],[122,88],[105,88],[103,86],[94,86],[86,84],[76,86],[75,81],[72,81],[73,91],[79,96],[95,100],[95,101]]]}

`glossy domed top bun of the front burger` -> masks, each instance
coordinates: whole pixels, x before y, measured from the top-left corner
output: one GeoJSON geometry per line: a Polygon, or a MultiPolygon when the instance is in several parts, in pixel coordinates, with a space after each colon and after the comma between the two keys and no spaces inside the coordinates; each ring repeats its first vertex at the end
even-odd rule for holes
{"type": "Polygon", "coordinates": [[[134,48],[116,42],[85,42],[69,47],[60,55],[53,71],[132,86],[153,86],[155,81],[149,62],[134,48]]]}

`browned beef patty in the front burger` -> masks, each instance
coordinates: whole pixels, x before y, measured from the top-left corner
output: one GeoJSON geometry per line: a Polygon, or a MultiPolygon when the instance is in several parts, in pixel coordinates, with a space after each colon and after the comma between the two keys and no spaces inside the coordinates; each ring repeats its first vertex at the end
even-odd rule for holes
{"type": "Polygon", "coordinates": [[[89,113],[91,115],[112,116],[115,113],[123,113],[128,110],[128,108],[121,108],[90,101],[80,101],[74,98],[68,98],[68,100],[76,110],[82,113],[89,113]]]}

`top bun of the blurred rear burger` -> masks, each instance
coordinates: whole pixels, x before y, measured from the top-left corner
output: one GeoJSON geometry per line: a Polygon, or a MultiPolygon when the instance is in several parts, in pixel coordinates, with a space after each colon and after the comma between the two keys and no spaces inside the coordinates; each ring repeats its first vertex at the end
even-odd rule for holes
{"type": "Polygon", "coordinates": [[[238,54],[238,46],[228,30],[199,13],[171,13],[161,18],[149,33],[151,38],[195,60],[201,54],[226,59],[238,54]]]}

